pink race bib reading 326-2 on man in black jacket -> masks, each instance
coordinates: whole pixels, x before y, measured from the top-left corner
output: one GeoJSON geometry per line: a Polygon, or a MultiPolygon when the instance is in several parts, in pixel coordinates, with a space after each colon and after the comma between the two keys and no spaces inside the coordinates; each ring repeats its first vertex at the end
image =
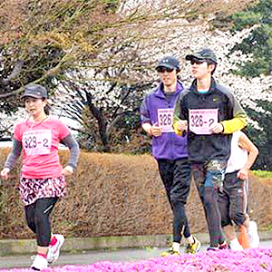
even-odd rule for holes
{"type": "Polygon", "coordinates": [[[218,109],[189,110],[189,131],[196,134],[211,134],[212,123],[218,123],[218,109]]]}

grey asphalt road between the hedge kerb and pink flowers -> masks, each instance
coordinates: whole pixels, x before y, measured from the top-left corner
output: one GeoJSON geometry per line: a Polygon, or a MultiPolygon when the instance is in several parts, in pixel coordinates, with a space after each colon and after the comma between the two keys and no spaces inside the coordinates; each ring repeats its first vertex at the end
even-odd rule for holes
{"type": "MultiPolygon", "coordinates": [[[[204,245],[200,250],[206,250],[204,245]]],[[[261,241],[260,248],[272,248],[272,240],[261,241]]],[[[99,261],[127,262],[138,261],[152,257],[160,257],[160,253],[166,248],[129,248],[115,251],[83,251],[78,254],[61,254],[53,266],[64,265],[90,265],[99,261]]],[[[31,256],[0,257],[0,268],[29,267],[32,263],[31,256]]],[[[1,270],[0,270],[1,272],[1,270]]]]}

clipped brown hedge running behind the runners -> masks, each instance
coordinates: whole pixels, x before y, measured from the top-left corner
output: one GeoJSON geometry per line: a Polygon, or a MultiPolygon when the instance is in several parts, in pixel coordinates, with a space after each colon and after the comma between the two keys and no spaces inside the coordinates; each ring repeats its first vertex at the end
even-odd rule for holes
{"type": "MultiPolygon", "coordinates": [[[[0,152],[0,167],[9,149],[0,152]]],[[[63,163],[67,151],[60,152],[63,163]]],[[[34,238],[26,227],[18,197],[20,165],[0,183],[0,238],[34,238]]],[[[150,155],[81,152],[78,169],[67,180],[67,195],[53,210],[53,231],[66,237],[171,233],[171,210],[150,155]]],[[[259,228],[272,221],[272,180],[250,177],[249,210],[259,228]]],[[[207,232],[206,220],[192,182],[187,214],[192,232],[207,232]]]]}

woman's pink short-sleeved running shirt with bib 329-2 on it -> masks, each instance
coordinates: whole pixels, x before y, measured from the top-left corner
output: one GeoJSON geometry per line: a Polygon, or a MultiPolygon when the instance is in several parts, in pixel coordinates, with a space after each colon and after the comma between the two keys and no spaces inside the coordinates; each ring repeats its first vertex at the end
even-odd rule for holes
{"type": "Polygon", "coordinates": [[[14,137],[22,141],[22,177],[26,179],[55,178],[62,175],[59,142],[70,134],[62,121],[49,117],[40,123],[22,121],[15,126],[14,137]]]}

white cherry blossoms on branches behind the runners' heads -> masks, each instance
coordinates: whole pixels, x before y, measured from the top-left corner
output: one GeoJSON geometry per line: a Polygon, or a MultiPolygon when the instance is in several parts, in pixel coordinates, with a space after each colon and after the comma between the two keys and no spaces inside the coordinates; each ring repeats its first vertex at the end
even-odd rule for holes
{"type": "MultiPolygon", "coordinates": [[[[257,27],[257,26],[254,26],[257,27]]],[[[133,72],[135,62],[126,63],[123,73],[119,73],[119,70],[115,68],[114,63],[118,63],[119,67],[122,60],[126,57],[127,52],[111,53],[111,46],[109,49],[100,53],[92,67],[89,69],[82,69],[80,73],[66,73],[67,79],[73,80],[79,88],[83,88],[83,83],[88,83],[89,92],[92,93],[93,101],[96,105],[105,106],[106,104],[121,105],[121,97],[116,92],[108,92],[111,87],[111,78],[121,79],[122,83],[134,82],[152,82],[158,80],[158,74],[155,72],[155,63],[160,60],[166,54],[173,54],[180,60],[180,77],[182,82],[189,86],[191,77],[189,73],[189,63],[185,61],[185,55],[202,47],[209,47],[214,50],[219,59],[219,64],[215,72],[216,80],[228,86],[230,91],[235,94],[238,100],[250,108],[263,112],[264,110],[257,107],[255,100],[266,100],[271,102],[271,87],[272,77],[260,75],[256,78],[247,79],[245,77],[237,76],[230,73],[231,69],[237,69],[238,63],[250,60],[251,55],[244,55],[243,53],[232,53],[228,57],[229,50],[234,44],[240,43],[244,38],[248,36],[252,28],[244,29],[237,34],[232,34],[230,31],[210,30],[209,20],[199,20],[189,23],[185,19],[177,20],[163,20],[154,24],[149,30],[151,34],[156,31],[157,37],[153,40],[140,40],[131,42],[131,47],[128,50],[135,50],[138,54],[138,61],[141,63],[154,63],[151,69],[145,69],[140,73],[133,72]],[[169,30],[169,31],[168,31],[169,30]],[[133,47],[134,46],[134,47],[133,47]],[[112,67],[107,70],[107,76],[103,70],[97,72],[94,67],[100,67],[109,58],[111,58],[112,67]],[[270,91],[269,91],[270,89],[270,91]]],[[[135,29],[134,31],[141,31],[135,29]]],[[[145,35],[143,35],[145,36],[145,35]]],[[[108,41],[109,44],[112,41],[108,41]]],[[[117,65],[117,66],[118,66],[117,65]]],[[[82,92],[84,96],[84,92],[82,92]]],[[[56,110],[56,114],[62,115],[65,112],[65,104],[67,102],[81,102],[77,93],[70,89],[64,88],[60,85],[59,89],[52,98],[53,109],[56,110]]],[[[15,120],[21,118],[22,112],[16,112],[11,117],[1,114],[0,118],[3,120],[2,126],[6,126],[10,123],[15,123],[15,120]]]]}

